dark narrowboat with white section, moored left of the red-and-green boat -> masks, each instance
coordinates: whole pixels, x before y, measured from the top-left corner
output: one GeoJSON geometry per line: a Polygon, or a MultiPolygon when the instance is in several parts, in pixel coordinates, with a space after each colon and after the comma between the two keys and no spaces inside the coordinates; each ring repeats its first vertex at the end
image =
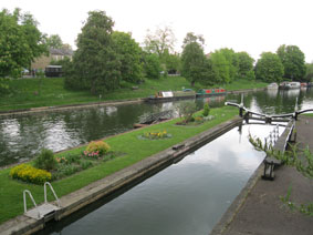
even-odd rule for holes
{"type": "Polygon", "coordinates": [[[191,89],[185,89],[182,91],[159,91],[155,95],[146,99],[148,102],[159,102],[159,101],[174,101],[182,99],[195,99],[196,92],[191,89]]]}

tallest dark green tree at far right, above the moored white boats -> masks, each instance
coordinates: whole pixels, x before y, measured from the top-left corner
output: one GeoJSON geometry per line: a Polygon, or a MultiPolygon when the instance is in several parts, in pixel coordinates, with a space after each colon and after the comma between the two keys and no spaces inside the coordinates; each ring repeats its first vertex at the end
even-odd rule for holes
{"type": "Polygon", "coordinates": [[[305,75],[304,53],[296,45],[281,45],[277,51],[284,68],[283,78],[302,81],[305,75]]]}

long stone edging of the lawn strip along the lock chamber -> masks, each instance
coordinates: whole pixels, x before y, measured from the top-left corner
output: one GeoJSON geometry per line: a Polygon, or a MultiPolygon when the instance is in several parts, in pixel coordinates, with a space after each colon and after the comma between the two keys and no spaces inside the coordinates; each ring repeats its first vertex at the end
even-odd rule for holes
{"type": "MultiPolygon", "coordinates": [[[[55,217],[61,219],[97,201],[98,198],[127,186],[129,183],[144,177],[165,164],[179,161],[190,151],[217,139],[232,127],[238,126],[241,122],[242,119],[234,117],[175,145],[177,147],[169,147],[126,168],[113,173],[107,177],[91,183],[81,190],[62,196],[60,198],[62,208],[56,213],[55,217]]],[[[24,215],[20,215],[0,225],[0,234],[32,234],[43,227],[43,219],[35,221],[24,215]]]]}

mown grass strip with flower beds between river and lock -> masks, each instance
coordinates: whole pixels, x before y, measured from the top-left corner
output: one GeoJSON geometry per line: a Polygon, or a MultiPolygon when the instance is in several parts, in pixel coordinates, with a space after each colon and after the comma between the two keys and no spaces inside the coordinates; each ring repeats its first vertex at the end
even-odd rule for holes
{"type": "MultiPolygon", "coordinates": [[[[145,129],[139,129],[125,134],[116,135],[106,139],[113,151],[126,153],[111,161],[101,163],[92,168],[76,173],[70,177],[53,182],[53,187],[58,196],[66,195],[83,186],[88,185],[100,178],[103,178],[116,171],[125,168],[143,159],[146,159],[155,153],[158,153],[167,147],[170,147],[179,142],[185,141],[198,133],[201,133],[217,124],[232,119],[238,113],[237,109],[225,106],[212,109],[211,115],[216,119],[205,122],[198,126],[180,126],[175,125],[177,120],[160,123],[145,129]],[[150,141],[139,140],[138,135],[148,131],[166,130],[173,136],[170,139],[150,141]]],[[[80,153],[85,147],[77,147],[60,155],[80,153]]],[[[30,190],[38,204],[43,202],[43,186],[31,185],[19,181],[13,181],[9,177],[10,168],[0,171],[0,224],[23,213],[23,190],[30,190]]],[[[51,196],[51,195],[50,195],[51,196]]],[[[53,200],[51,196],[50,200],[53,200]]],[[[31,204],[29,204],[31,206],[31,204]]]]}

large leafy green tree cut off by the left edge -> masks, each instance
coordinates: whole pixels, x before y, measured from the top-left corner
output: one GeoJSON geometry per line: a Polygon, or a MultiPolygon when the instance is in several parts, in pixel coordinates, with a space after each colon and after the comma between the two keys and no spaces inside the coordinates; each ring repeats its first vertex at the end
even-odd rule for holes
{"type": "Polygon", "coordinates": [[[0,12],[0,76],[19,76],[22,68],[46,53],[44,35],[38,30],[38,22],[29,13],[0,12]]]}

